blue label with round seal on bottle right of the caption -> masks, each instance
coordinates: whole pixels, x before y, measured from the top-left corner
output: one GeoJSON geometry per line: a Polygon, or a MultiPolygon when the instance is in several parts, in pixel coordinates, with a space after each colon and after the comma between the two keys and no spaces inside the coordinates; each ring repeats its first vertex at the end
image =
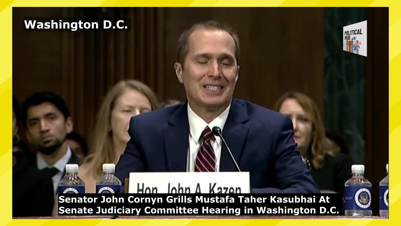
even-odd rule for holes
{"type": "Polygon", "coordinates": [[[345,210],[372,210],[372,187],[346,186],[345,210]]]}

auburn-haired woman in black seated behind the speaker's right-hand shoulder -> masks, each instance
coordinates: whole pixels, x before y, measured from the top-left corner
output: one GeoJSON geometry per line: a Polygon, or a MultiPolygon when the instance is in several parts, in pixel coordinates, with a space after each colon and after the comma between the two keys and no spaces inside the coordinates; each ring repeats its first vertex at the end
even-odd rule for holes
{"type": "Polygon", "coordinates": [[[294,126],[294,140],[321,191],[344,193],[344,183],[352,176],[352,159],[325,136],[316,104],[299,92],[285,93],[274,106],[287,115],[294,126]]]}

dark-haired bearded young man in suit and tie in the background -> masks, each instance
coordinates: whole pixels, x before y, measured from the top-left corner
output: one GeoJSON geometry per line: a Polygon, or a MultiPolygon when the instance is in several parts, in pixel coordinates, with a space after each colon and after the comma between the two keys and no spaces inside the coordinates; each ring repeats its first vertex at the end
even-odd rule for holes
{"type": "Polygon", "coordinates": [[[81,163],[66,142],[67,134],[73,130],[67,104],[55,93],[40,92],[25,100],[21,113],[27,139],[38,150],[30,163],[50,175],[57,193],[65,165],[81,163]]]}

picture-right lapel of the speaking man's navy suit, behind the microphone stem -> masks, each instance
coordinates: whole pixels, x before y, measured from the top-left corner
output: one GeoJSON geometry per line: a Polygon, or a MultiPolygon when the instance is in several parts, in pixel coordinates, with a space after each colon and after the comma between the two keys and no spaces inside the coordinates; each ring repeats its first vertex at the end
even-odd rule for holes
{"type": "MultiPolygon", "coordinates": [[[[249,131],[249,127],[245,125],[248,120],[249,117],[244,105],[239,100],[233,100],[231,102],[227,121],[223,128],[223,137],[240,168],[239,157],[241,156],[243,145],[249,131]]],[[[221,146],[220,171],[238,171],[227,147],[223,143],[221,146]]]]}

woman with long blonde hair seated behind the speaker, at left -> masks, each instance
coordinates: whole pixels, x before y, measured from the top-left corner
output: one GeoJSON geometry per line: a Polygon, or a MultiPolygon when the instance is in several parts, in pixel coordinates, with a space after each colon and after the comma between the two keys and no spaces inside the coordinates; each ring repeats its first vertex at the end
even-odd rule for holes
{"type": "Polygon", "coordinates": [[[95,193],[96,181],[103,175],[102,164],[117,164],[130,139],[131,117],[159,108],[154,92],[142,82],[124,80],[107,93],[99,112],[89,154],[79,167],[85,193],[95,193]]]}

